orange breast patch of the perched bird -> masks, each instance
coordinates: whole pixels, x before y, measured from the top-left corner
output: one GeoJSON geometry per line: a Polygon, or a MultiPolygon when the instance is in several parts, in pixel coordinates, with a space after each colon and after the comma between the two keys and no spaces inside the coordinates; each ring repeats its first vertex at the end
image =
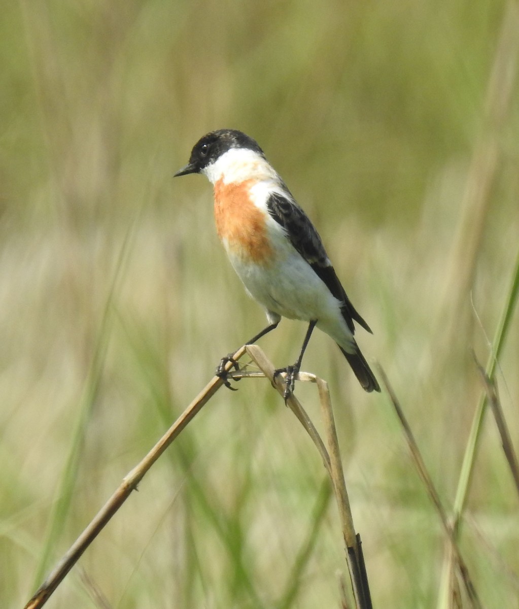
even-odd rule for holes
{"type": "Polygon", "coordinates": [[[220,239],[240,258],[257,264],[267,264],[272,248],[267,239],[265,215],[249,197],[249,188],[254,183],[247,180],[240,184],[224,184],[219,180],[214,185],[214,219],[220,239]]]}

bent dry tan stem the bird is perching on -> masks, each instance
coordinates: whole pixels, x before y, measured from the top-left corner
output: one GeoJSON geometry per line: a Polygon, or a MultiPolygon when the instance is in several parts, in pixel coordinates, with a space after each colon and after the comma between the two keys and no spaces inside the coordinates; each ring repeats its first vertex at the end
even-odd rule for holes
{"type": "MultiPolygon", "coordinates": [[[[233,355],[233,359],[238,361],[245,352],[249,354],[253,362],[258,366],[261,373],[248,373],[238,372],[231,373],[231,376],[235,378],[246,378],[246,377],[257,377],[266,376],[275,389],[283,396],[286,389],[286,385],[280,376],[277,376],[274,381],[274,365],[267,359],[263,351],[256,347],[256,345],[248,345],[247,347],[241,347],[233,355]]],[[[233,366],[232,362],[228,362],[226,370],[230,370],[233,366]]],[[[339,506],[339,516],[341,518],[342,534],[345,542],[345,553],[347,558],[348,569],[350,572],[351,584],[353,588],[353,596],[355,598],[355,606],[357,609],[371,609],[371,599],[369,594],[369,586],[367,582],[367,576],[364,565],[364,558],[362,557],[360,538],[355,533],[353,528],[353,519],[351,518],[350,504],[348,500],[347,490],[344,482],[344,473],[342,471],[342,463],[339,452],[339,445],[337,443],[337,435],[335,431],[335,424],[333,420],[333,412],[331,410],[330,393],[328,392],[328,385],[322,379],[317,378],[314,375],[308,373],[301,373],[298,376],[299,380],[316,382],[319,389],[320,403],[323,410],[323,418],[325,420],[325,426],[327,430],[328,445],[330,447],[330,454],[320,438],[317,430],[306,414],[305,410],[298,402],[297,398],[293,394],[288,396],[286,404],[294,412],[300,423],[308,432],[312,439],[312,442],[316,445],[320,456],[322,457],[323,464],[330,476],[334,494],[336,495],[337,505],[339,506]]],[[[37,609],[43,607],[43,605],[52,596],[52,593],[60,585],[65,578],[66,574],[72,569],[72,567],[79,560],[86,548],[90,546],[93,540],[99,535],[99,533],[108,524],[110,519],[116,514],[122,504],[129,498],[133,490],[136,490],[139,482],[143,479],[146,473],[150,470],[152,465],[157,459],[163,454],[169,445],[178,437],[180,432],[186,428],[188,423],[194,418],[194,416],[200,412],[203,406],[213,397],[214,393],[217,392],[220,387],[224,385],[224,380],[215,376],[206,387],[196,396],[196,398],[189,404],[186,410],[175,423],[168,429],[166,434],[157,442],[146,457],[130,471],[127,476],[124,477],[121,485],[117,488],[115,493],[108,499],[106,504],[97,513],[91,523],[81,533],[77,540],[72,544],[68,552],[62,557],[62,559],[55,566],[54,570],[49,574],[45,582],[38,588],[34,596],[29,600],[24,609],[37,609]]]]}

